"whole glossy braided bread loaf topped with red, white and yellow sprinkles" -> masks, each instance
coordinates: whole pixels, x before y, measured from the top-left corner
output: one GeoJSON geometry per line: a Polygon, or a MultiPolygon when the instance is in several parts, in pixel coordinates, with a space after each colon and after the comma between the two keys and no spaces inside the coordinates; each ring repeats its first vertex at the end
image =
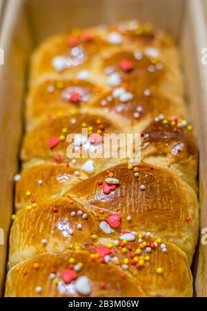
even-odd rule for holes
{"type": "Polygon", "coordinates": [[[192,296],[197,147],[172,38],[138,21],[72,30],[34,51],[29,84],[5,295],[192,296]],[[139,165],[93,157],[129,133],[139,165]]]}

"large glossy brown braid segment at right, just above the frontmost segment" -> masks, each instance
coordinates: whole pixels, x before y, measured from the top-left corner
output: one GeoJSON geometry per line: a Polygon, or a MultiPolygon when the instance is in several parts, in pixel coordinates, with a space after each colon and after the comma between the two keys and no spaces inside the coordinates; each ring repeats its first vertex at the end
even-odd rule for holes
{"type": "MultiPolygon", "coordinates": [[[[103,183],[108,174],[103,171],[73,186],[68,195],[97,215],[100,210],[104,211],[103,215],[120,213],[121,224],[116,230],[145,231],[147,228],[178,245],[191,262],[199,226],[193,189],[174,172],[144,163],[138,166],[139,177],[135,177],[134,170],[128,169],[126,163],[109,171],[119,180],[116,190],[104,193],[104,184],[100,186],[99,181],[103,183]],[[130,222],[128,215],[132,218],[130,222]]],[[[103,215],[99,220],[104,220],[103,215]]]]}

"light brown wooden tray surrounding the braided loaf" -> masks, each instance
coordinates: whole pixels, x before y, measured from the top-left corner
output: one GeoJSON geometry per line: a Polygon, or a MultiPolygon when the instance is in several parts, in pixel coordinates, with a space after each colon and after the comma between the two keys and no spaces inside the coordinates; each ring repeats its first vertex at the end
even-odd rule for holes
{"type": "MultiPolygon", "coordinates": [[[[13,206],[13,176],[23,128],[23,94],[32,48],[42,39],[70,28],[111,24],[124,19],[152,21],[177,38],[186,77],[189,119],[199,145],[199,199],[201,229],[207,228],[207,65],[201,49],[207,47],[204,0],[7,0],[0,30],[5,65],[0,66],[0,288],[6,272],[8,234],[13,206]]],[[[207,242],[207,238],[206,238],[207,242]]],[[[207,245],[201,244],[193,264],[195,296],[207,296],[207,245]]]]}

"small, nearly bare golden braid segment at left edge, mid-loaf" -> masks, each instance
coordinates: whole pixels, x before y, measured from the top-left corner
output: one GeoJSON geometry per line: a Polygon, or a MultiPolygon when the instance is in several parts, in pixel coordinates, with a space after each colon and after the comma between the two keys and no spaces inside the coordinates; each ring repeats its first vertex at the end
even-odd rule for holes
{"type": "Polygon", "coordinates": [[[68,164],[49,163],[22,170],[20,176],[16,186],[16,211],[61,197],[71,186],[88,177],[82,170],[68,164]]]}

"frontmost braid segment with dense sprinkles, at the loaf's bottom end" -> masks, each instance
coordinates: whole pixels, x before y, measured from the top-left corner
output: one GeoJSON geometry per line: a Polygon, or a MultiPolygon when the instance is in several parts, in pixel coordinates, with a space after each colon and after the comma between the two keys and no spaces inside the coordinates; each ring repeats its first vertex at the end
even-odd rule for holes
{"type": "Polygon", "coordinates": [[[143,242],[127,242],[124,247],[106,240],[83,250],[24,260],[8,273],[6,296],[192,296],[185,254],[156,237],[138,236],[143,242]],[[75,272],[77,265],[81,268],[75,272]],[[67,274],[74,278],[70,284],[67,274]],[[81,276],[90,282],[85,295],[77,292],[81,276]]]}

